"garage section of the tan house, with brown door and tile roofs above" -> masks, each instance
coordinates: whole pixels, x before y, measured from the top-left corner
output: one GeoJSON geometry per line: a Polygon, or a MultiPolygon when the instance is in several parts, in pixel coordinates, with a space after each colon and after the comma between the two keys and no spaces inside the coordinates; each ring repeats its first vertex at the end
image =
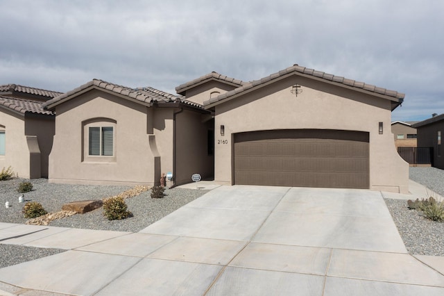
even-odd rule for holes
{"type": "Polygon", "coordinates": [[[176,90],[214,113],[219,183],[408,192],[389,129],[404,94],[298,65],[248,83],[213,72],[176,90]]]}

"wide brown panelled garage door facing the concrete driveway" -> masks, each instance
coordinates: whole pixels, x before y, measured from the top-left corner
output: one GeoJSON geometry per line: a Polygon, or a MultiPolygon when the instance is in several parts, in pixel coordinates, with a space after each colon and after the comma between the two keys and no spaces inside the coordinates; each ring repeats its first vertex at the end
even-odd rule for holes
{"type": "Polygon", "coordinates": [[[368,133],[275,130],[234,135],[234,183],[369,188],[368,133]]]}

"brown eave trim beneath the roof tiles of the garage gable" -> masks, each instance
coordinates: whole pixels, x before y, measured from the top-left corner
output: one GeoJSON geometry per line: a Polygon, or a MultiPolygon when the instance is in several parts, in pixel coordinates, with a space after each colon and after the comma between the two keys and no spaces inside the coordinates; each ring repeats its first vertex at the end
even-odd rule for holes
{"type": "Polygon", "coordinates": [[[311,80],[321,81],[323,83],[328,83],[328,84],[331,84],[331,85],[336,85],[336,86],[339,86],[340,88],[346,88],[346,89],[349,89],[349,90],[354,90],[356,92],[361,92],[361,93],[364,93],[364,94],[369,94],[370,96],[373,96],[373,97],[380,97],[382,99],[388,99],[388,100],[392,101],[392,107],[391,107],[392,111],[395,110],[395,108],[397,108],[398,106],[400,106],[400,104],[402,104],[402,101],[404,101],[403,98],[390,97],[390,96],[387,96],[385,94],[379,94],[377,92],[370,92],[368,90],[364,90],[364,89],[361,89],[361,88],[355,88],[355,87],[352,87],[350,85],[346,85],[346,84],[343,84],[343,83],[337,83],[335,81],[330,81],[330,80],[327,80],[327,79],[322,79],[320,77],[311,76],[311,75],[303,74],[303,73],[300,73],[300,72],[291,72],[289,74],[285,74],[285,75],[279,76],[279,77],[277,77],[275,79],[271,79],[270,81],[266,81],[266,82],[261,83],[259,85],[255,85],[255,86],[253,86],[253,88],[248,88],[248,90],[244,90],[243,92],[239,92],[237,94],[233,94],[232,96],[230,96],[230,97],[228,97],[226,99],[222,99],[221,101],[215,101],[213,103],[207,104],[207,105],[204,106],[204,108],[205,109],[214,108],[215,106],[217,106],[219,104],[223,104],[223,103],[225,103],[227,101],[230,101],[232,99],[236,99],[237,97],[241,97],[242,95],[248,94],[249,92],[254,92],[255,90],[258,90],[259,88],[264,88],[267,85],[271,85],[271,84],[273,84],[273,83],[275,83],[277,81],[281,81],[283,79],[287,79],[287,78],[289,78],[289,77],[291,77],[293,75],[305,77],[305,78],[311,79],[311,80]]]}

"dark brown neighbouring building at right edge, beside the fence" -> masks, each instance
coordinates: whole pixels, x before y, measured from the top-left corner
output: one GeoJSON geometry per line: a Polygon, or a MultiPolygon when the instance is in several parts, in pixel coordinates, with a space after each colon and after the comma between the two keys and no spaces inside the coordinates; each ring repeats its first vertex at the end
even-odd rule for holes
{"type": "Polygon", "coordinates": [[[412,127],[418,131],[418,147],[432,147],[432,165],[444,170],[444,148],[441,140],[444,134],[444,114],[434,114],[412,127]]]}

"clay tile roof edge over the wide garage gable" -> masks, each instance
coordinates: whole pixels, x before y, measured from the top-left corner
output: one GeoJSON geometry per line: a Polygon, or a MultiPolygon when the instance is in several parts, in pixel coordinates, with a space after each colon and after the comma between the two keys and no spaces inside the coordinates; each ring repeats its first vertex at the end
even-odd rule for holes
{"type": "MultiPolygon", "coordinates": [[[[325,81],[328,81],[329,83],[337,83],[338,85],[345,85],[347,87],[354,88],[356,90],[365,90],[367,92],[373,92],[375,94],[382,94],[386,97],[391,97],[391,101],[395,101],[398,104],[402,103],[405,94],[402,94],[400,92],[397,92],[395,90],[387,90],[385,88],[378,88],[375,85],[366,84],[364,82],[355,81],[352,79],[345,79],[341,76],[335,76],[333,74],[327,74],[325,72],[316,71],[314,69],[308,69],[306,67],[301,67],[300,65],[293,65],[291,67],[288,67],[287,69],[282,69],[278,73],[271,74],[270,76],[266,76],[262,79],[251,81],[250,83],[244,83],[243,85],[239,86],[239,88],[236,88],[235,90],[231,90],[230,92],[225,92],[225,94],[221,94],[218,97],[214,97],[208,101],[204,101],[203,105],[208,106],[210,104],[217,103],[219,101],[223,101],[225,99],[229,99],[230,97],[233,97],[235,94],[239,94],[241,92],[245,92],[246,90],[249,90],[250,88],[260,88],[262,85],[267,83],[268,81],[273,81],[274,79],[281,79],[284,78],[284,76],[291,75],[291,74],[299,74],[302,76],[308,76],[308,77],[314,77],[316,79],[322,79],[325,81]]],[[[177,88],[176,88],[177,90],[177,88]]],[[[395,105],[398,106],[398,105],[395,105]]]]}

